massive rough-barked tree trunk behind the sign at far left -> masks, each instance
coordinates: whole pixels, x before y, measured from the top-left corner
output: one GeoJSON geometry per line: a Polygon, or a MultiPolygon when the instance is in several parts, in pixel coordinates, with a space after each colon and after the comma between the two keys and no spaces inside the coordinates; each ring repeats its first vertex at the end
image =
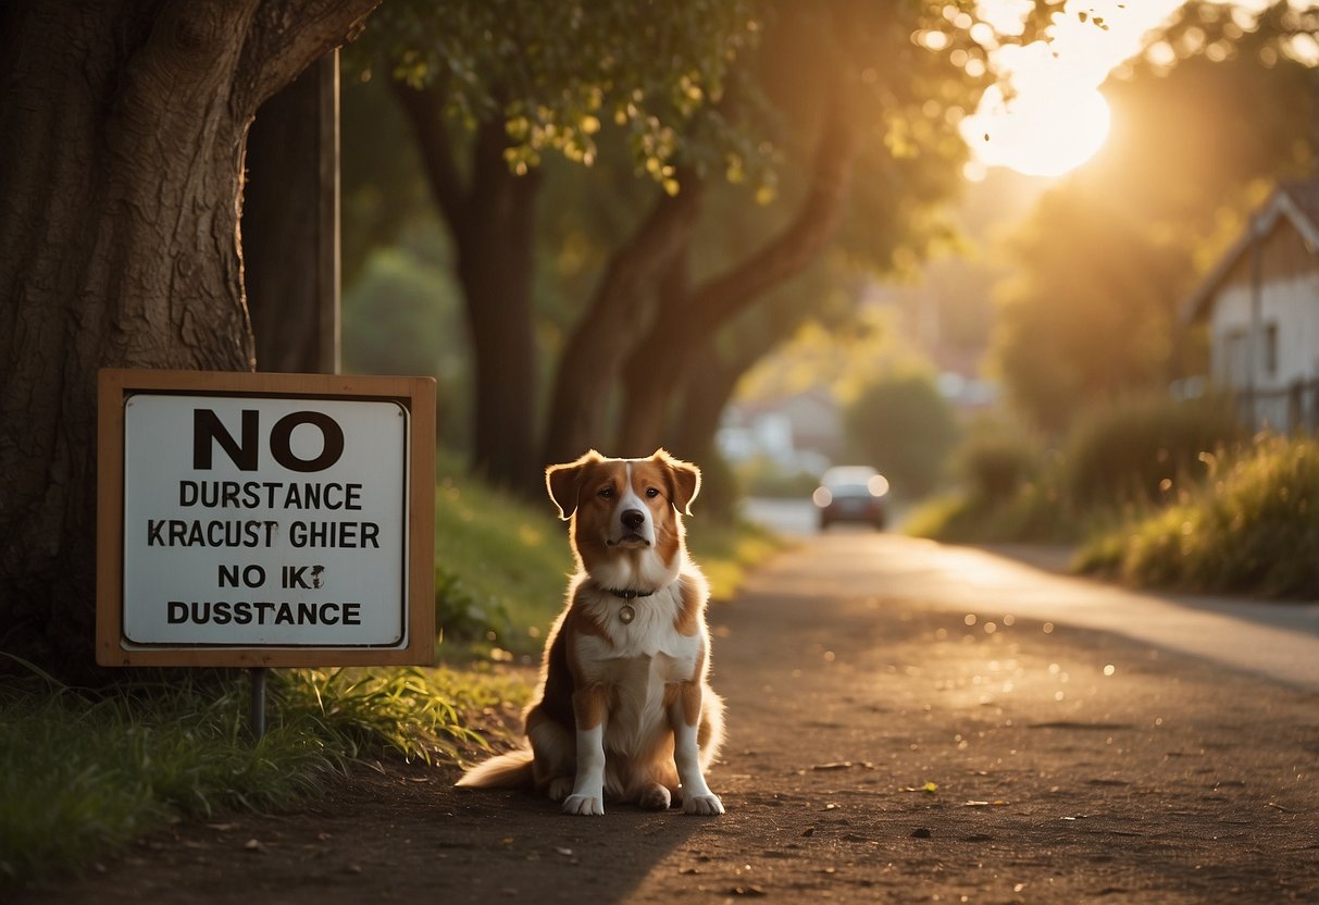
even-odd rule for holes
{"type": "Polygon", "coordinates": [[[247,128],[373,5],[0,8],[0,649],[95,674],[96,371],[252,367],[247,128]]]}

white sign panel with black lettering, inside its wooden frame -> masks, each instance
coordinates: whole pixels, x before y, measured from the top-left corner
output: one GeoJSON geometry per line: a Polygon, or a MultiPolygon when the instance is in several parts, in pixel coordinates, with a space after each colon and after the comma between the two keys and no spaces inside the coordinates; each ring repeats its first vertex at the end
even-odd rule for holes
{"type": "Polygon", "coordinates": [[[124,637],[405,641],[408,410],[136,393],[124,404],[124,637]]]}

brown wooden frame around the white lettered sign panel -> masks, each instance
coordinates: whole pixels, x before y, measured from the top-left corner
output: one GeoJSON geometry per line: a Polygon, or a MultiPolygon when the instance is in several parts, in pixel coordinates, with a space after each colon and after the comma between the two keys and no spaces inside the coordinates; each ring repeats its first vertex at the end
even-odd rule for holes
{"type": "MultiPolygon", "coordinates": [[[[350,406],[352,408],[352,406],[350,406]]],[[[397,414],[397,413],[396,413],[397,414]]],[[[96,662],[103,666],[361,666],[430,665],[435,658],[435,381],[203,371],[103,369],[98,380],[96,662]],[[392,402],[406,409],[406,540],[402,620],[406,633],[388,644],[166,641],[141,644],[125,635],[125,410],[138,394],[392,402]]],[[[233,604],[237,606],[237,604],[233,604]]],[[[256,606],[256,604],[252,604],[256,606]]],[[[347,604],[342,604],[347,606],[347,604]]],[[[141,636],[138,636],[141,637],[141,636]]]]}

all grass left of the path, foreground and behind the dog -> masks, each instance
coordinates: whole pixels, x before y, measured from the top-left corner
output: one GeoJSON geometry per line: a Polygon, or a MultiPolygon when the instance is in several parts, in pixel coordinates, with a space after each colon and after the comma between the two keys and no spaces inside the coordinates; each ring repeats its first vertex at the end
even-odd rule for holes
{"type": "MultiPolygon", "coordinates": [[[[142,670],[106,691],[30,666],[0,679],[0,893],[84,869],[173,819],[295,806],[357,761],[451,763],[484,745],[530,697],[525,671],[492,661],[538,660],[572,567],[567,530],[547,501],[447,463],[435,509],[448,665],[272,670],[260,741],[236,670],[142,670]]],[[[689,525],[716,598],[777,547],[748,525],[689,525]]]]}

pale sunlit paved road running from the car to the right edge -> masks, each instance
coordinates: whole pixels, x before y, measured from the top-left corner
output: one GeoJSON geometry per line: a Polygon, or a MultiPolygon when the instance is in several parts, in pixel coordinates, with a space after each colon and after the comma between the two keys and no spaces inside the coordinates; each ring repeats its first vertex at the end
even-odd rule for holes
{"type": "MultiPolygon", "coordinates": [[[[802,542],[818,537],[809,503],[753,500],[748,515],[802,542]]],[[[1047,569],[1042,574],[1022,562],[1062,567],[1064,557],[1049,550],[948,547],[848,526],[831,532],[813,555],[839,587],[868,583],[876,592],[946,609],[998,609],[1017,619],[1117,632],[1319,690],[1319,603],[1138,594],[1047,569]]]]}

